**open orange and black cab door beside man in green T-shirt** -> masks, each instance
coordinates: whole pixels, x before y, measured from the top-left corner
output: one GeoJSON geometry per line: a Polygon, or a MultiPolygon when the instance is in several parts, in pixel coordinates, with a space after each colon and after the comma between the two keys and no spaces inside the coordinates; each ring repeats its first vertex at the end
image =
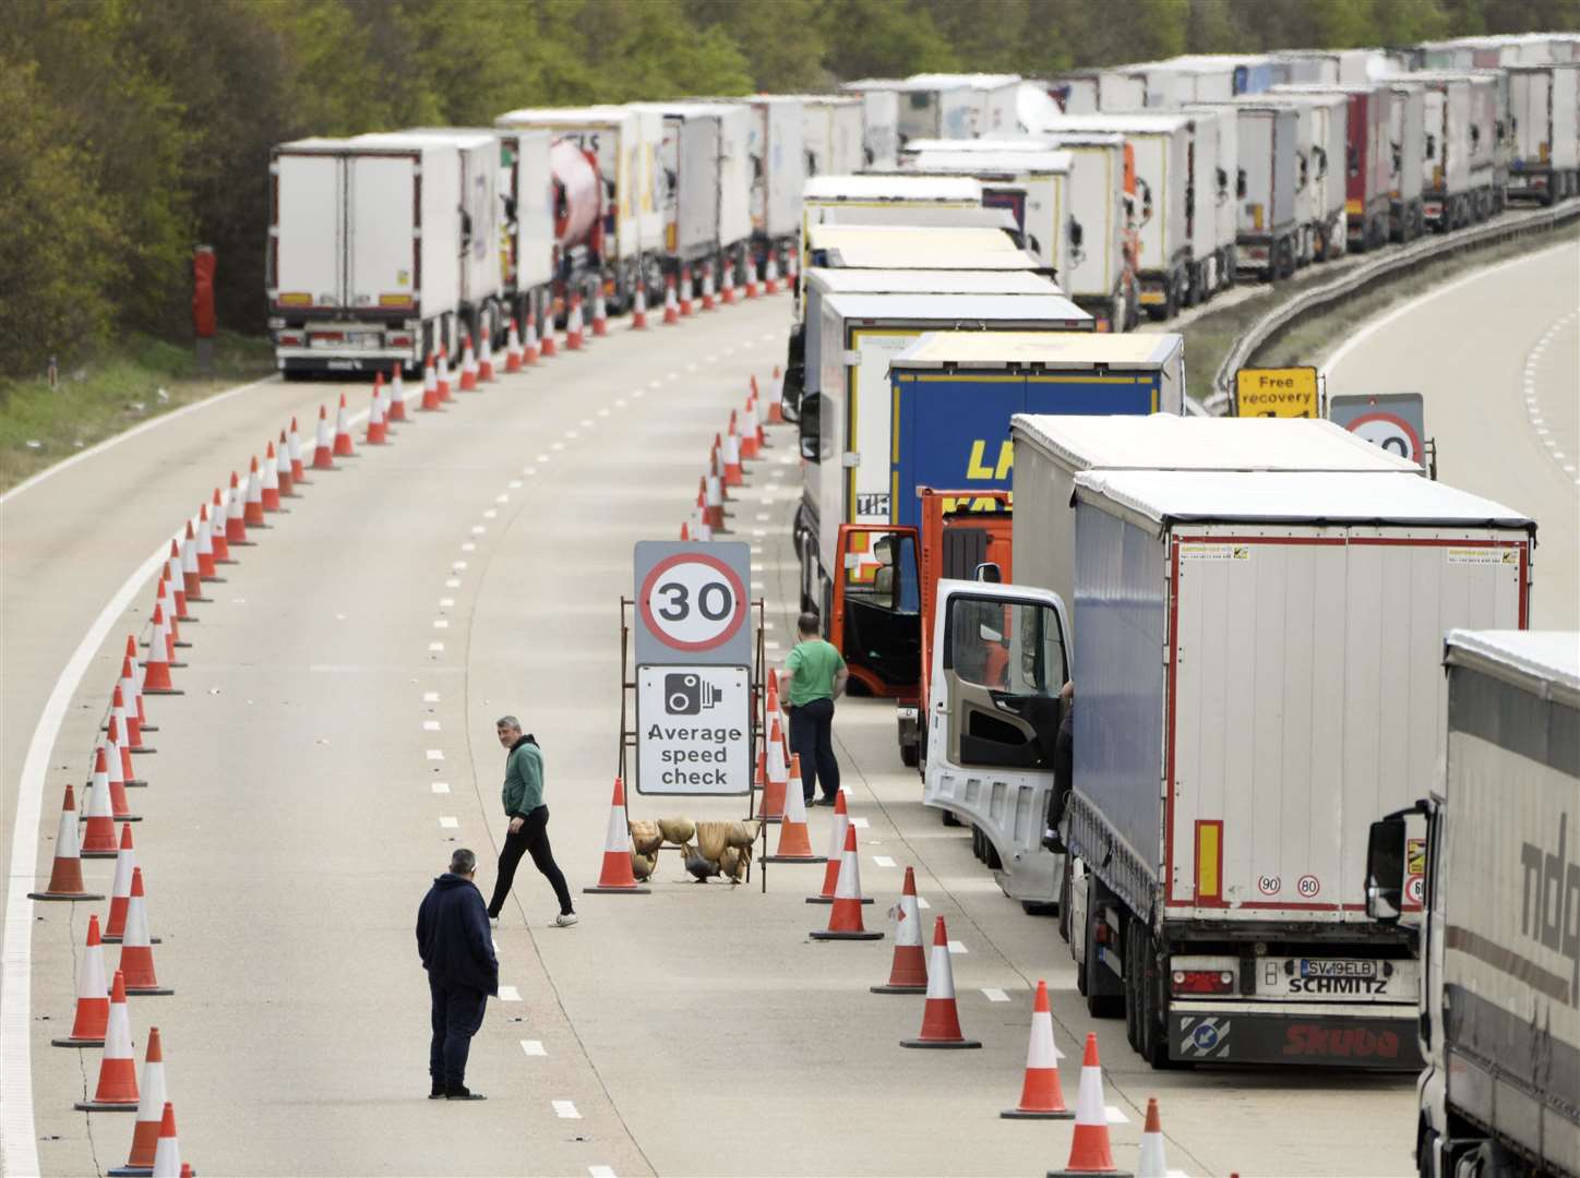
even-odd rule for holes
{"type": "Polygon", "coordinates": [[[841,524],[828,641],[871,695],[921,681],[921,573],[915,527],[841,524]]]}

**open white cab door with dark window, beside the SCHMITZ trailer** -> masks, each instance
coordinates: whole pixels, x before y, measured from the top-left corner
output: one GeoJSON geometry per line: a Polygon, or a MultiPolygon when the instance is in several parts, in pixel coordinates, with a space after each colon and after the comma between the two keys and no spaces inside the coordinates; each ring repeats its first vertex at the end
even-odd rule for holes
{"type": "Polygon", "coordinates": [[[1055,903],[1063,859],[1043,846],[1070,622],[1046,589],[939,581],[923,801],[970,823],[1005,895],[1055,903]]]}

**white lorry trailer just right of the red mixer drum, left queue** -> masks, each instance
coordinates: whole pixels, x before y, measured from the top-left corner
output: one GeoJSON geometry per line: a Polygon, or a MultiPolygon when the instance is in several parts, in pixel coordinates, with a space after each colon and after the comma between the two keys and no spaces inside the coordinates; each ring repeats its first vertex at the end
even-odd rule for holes
{"type": "Polygon", "coordinates": [[[604,273],[613,284],[610,302],[624,308],[638,283],[648,298],[664,292],[659,259],[664,253],[667,180],[659,166],[664,118],[632,106],[523,107],[495,120],[507,129],[547,131],[597,161],[604,183],[604,273]],[[613,248],[610,248],[613,245],[613,248]]]}

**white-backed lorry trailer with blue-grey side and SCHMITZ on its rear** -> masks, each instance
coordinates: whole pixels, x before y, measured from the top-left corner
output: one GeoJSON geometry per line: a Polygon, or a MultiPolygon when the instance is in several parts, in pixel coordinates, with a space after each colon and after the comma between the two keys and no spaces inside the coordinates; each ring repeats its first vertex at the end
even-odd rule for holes
{"type": "Polygon", "coordinates": [[[1400,474],[1074,486],[1060,829],[1089,1009],[1155,1066],[1417,1069],[1413,935],[1365,914],[1368,827],[1430,785],[1443,633],[1525,624],[1534,523],[1400,474]]]}

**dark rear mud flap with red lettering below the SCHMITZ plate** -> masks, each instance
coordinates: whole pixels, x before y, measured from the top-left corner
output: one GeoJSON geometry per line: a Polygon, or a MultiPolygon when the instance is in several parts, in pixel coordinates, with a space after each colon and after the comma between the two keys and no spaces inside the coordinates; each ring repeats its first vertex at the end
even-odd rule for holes
{"type": "Polygon", "coordinates": [[[1420,1071],[1416,1020],[1343,1015],[1169,1014],[1169,1058],[1420,1071]]]}

